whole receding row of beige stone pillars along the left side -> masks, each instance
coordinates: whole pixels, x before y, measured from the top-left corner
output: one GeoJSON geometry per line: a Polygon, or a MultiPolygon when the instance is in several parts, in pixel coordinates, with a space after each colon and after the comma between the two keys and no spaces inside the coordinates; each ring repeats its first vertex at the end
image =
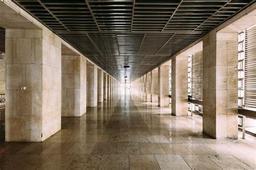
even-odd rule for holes
{"type": "Polygon", "coordinates": [[[43,141],[61,117],[113,98],[119,82],[50,30],[6,29],[6,141],[43,141]]]}

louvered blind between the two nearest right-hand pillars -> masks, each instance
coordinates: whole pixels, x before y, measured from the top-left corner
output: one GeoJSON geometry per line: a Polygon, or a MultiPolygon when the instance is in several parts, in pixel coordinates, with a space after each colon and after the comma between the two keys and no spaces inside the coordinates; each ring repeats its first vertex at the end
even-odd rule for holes
{"type": "Polygon", "coordinates": [[[192,89],[191,95],[195,100],[203,100],[203,52],[192,55],[192,89]]]}

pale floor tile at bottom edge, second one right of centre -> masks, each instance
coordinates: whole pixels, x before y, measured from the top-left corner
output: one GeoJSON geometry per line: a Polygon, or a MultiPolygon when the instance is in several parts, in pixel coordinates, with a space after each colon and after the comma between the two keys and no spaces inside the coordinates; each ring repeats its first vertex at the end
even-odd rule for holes
{"type": "Polygon", "coordinates": [[[156,155],[161,169],[190,169],[180,155],[156,155]]]}

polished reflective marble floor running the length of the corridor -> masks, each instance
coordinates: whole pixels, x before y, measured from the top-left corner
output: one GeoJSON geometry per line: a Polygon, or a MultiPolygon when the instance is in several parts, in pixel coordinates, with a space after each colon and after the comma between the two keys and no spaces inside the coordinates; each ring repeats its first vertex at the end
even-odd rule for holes
{"type": "Polygon", "coordinates": [[[104,101],[42,143],[0,143],[0,169],[255,169],[256,139],[212,139],[202,117],[138,96],[104,101]]]}

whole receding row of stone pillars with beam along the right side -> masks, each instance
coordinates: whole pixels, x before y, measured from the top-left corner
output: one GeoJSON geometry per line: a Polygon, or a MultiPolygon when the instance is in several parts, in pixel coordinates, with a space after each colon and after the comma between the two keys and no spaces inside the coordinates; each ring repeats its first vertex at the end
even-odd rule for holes
{"type": "MultiPolygon", "coordinates": [[[[188,55],[203,51],[203,132],[213,138],[238,138],[237,39],[239,31],[256,24],[255,12],[254,4],[171,57],[171,114],[188,116],[187,59],[188,55]]],[[[132,82],[136,95],[158,102],[159,107],[168,106],[166,65],[170,63],[132,82]]]]}

